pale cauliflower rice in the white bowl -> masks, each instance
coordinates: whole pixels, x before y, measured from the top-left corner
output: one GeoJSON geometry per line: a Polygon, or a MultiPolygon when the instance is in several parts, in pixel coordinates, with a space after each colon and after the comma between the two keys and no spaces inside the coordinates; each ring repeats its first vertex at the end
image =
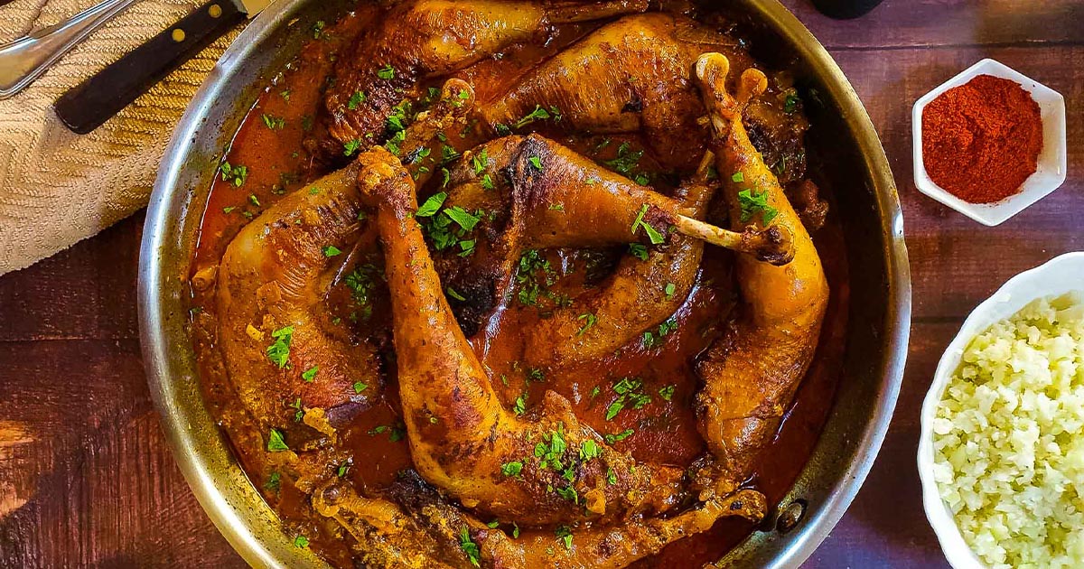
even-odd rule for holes
{"type": "Polygon", "coordinates": [[[1084,567],[1084,305],[1037,299],[971,340],[933,421],[933,477],[991,568],[1084,567]]]}

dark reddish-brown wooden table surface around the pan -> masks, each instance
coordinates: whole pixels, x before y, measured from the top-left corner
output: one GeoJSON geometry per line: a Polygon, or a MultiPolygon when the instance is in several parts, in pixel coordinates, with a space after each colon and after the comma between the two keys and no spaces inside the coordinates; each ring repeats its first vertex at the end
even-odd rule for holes
{"type": "MultiPolygon", "coordinates": [[[[946,567],[922,514],[918,410],[963,319],[1014,274],[1084,249],[1084,3],[888,0],[835,22],[787,5],[847,73],[903,202],[914,281],[907,368],[885,445],[810,568],[946,567]],[[1060,91],[1064,185],[998,228],[919,194],[911,105],[983,57],[1060,91]]],[[[163,439],[136,313],[142,215],[0,277],[0,567],[240,567],[163,439]]]]}

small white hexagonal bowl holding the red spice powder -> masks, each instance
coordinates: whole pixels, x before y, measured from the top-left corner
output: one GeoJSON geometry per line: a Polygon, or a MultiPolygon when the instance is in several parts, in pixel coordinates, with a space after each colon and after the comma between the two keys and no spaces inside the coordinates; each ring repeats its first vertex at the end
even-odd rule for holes
{"type": "Polygon", "coordinates": [[[1054,89],[994,60],[982,60],[922,95],[915,102],[911,122],[915,185],[918,186],[918,191],[980,223],[997,225],[1057,190],[1066,181],[1066,100],[1054,89]],[[993,75],[1020,83],[1038,103],[1038,111],[1043,117],[1043,151],[1038,155],[1035,173],[1024,181],[1020,192],[993,204],[970,204],[950,194],[930,180],[922,164],[922,109],[926,108],[926,104],[949,89],[970,81],[977,75],[993,75]]]}

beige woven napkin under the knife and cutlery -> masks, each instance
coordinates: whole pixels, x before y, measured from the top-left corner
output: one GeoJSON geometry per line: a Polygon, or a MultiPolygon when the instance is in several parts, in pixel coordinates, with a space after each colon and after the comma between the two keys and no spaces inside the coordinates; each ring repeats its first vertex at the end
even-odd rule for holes
{"type": "MultiPolygon", "coordinates": [[[[0,7],[0,43],[96,2],[15,0],[0,7]]],[[[199,3],[137,2],[22,93],[0,101],[0,274],[67,248],[146,205],[173,126],[237,30],[90,134],[67,130],[52,104],[199,3]]]]}

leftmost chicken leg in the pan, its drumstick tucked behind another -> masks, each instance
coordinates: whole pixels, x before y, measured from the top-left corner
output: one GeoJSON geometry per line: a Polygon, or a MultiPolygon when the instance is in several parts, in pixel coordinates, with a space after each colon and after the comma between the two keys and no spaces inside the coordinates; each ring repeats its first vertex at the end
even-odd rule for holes
{"type": "MultiPolygon", "coordinates": [[[[449,80],[434,109],[408,129],[404,150],[434,144],[442,127],[462,126],[472,103],[470,88],[449,80]]],[[[426,176],[418,164],[410,168],[426,176]]],[[[348,341],[323,308],[352,257],[330,251],[351,251],[365,229],[358,221],[358,171],[351,165],[269,207],[233,238],[218,269],[218,341],[230,380],[264,432],[280,429],[287,444],[296,440],[291,431],[299,413],[306,424],[326,416],[332,425],[309,426],[328,434],[382,389],[374,347],[348,341]],[[366,386],[361,392],[358,382],[366,386]]]]}

